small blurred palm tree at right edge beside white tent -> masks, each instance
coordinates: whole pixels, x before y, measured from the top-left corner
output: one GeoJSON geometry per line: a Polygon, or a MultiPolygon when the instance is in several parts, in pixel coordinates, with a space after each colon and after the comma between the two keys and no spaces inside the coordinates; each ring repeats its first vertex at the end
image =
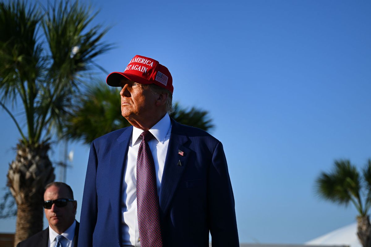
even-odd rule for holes
{"type": "Polygon", "coordinates": [[[316,186],[320,197],[345,206],[351,202],[357,208],[357,235],[363,247],[370,247],[371,160],[362,169],[362,177],[349,160],[335,160],[334,170],[322,172],[316,186]]]}

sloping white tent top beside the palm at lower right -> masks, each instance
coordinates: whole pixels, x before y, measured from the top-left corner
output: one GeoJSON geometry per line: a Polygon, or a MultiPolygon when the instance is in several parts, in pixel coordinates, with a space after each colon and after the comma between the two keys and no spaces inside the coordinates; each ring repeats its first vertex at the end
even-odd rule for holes
{"type": "Polygon", "coordinates": [[[341,227],[305,243],[306,245],[345,245],[362,247],[357,236],[357,223],[341,227]]]}

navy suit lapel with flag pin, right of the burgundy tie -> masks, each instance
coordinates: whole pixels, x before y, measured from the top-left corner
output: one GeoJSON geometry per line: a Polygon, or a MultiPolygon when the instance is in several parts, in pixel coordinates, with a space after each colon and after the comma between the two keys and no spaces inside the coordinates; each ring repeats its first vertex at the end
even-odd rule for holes
{"type": "Polygon", "coordinates": [[[179,180],[187,166],[187,159],[190,154],[190,149],[183,146],[183,144],[189,140],[183,132],[183,128],[173,119],[171,119],[171,122],[171,135],[167,149],[164,173],[162,174],[159,196],[160,215],[165,215],[168,210],[179,180]],[[180,155],[178,153],[179,151],[183,151],[183,155],[180,155]]]}

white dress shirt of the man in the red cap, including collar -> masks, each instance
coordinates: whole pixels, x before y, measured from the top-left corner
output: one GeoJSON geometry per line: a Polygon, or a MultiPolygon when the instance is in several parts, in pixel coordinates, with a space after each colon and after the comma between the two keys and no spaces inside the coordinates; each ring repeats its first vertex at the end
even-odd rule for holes
{"type": "MultiPolygon", "coordinates": [[[[171,133],[171,121],[169,115],[157,122],[150,130],[154,136],[148,145],[150,146],[155,163],[157,195],[160,193],[162,172],[164,171],[167,147],[171,133]]],[[[137,156],[139,145],[142,141],[140,134],[143,130],[133,127],[131,141],[129,142],[128,156],[124,168],[124,181],[122,183],[122,246],[140,247],[138,212],[137,212],[137,156]]]]}

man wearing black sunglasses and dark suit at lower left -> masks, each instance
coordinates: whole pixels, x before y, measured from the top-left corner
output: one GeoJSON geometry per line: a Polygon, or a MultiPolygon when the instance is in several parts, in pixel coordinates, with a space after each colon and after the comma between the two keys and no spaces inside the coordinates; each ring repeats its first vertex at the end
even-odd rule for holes
{"type": "Polygon", "coordinates": [[[43,206],[49,227],[20,242],[17,247],[77,247],[77,202],[73,200],[71,187],[62,182],[48,184],[43,206]]]}

